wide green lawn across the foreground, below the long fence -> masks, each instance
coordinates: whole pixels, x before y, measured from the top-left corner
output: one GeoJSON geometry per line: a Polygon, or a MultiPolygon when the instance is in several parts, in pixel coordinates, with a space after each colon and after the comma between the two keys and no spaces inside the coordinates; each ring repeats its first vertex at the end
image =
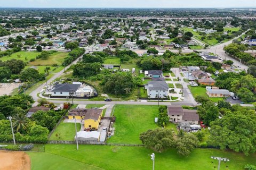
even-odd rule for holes
{"type": "Polygon", "coordinates": [[[216,170],[218,161],[211,159],[211,156],[230,159],[227,163],[222,162],[220,169],[243,170],[246,164],[255,164],[256,159],[256,154],[244,156],[219,149],[195,149],[189,157],[181,157],[174,149],[160,153],[144,147],[99,145],[79,145],[79,150],[76,150],[76,145],[45,145],[45,153],[29,152],[28,154],[33,170],[97,169],[97,167],[106,170],[147,170],[152,168],[152,160],[150,159],[152,152],[155,153],[156,157],[156,170],[216,170]],[[88,166],[88,164],[93,167],[88,166]]]}

